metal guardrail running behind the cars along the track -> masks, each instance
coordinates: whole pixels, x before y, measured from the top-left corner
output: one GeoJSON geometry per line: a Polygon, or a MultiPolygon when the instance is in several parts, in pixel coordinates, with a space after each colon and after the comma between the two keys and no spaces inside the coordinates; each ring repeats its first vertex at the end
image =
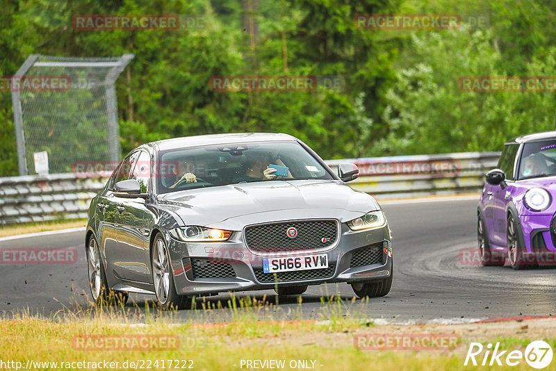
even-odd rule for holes
{"type": "MultiPolygon", "coordinates": [[[[327,160],[336,171],[340,163],[357,163],[355,189],[378,199],[453,195],[478,192],[484,173],[496,167],[499,152],[348,158],[327,160]]],[[[0,178],[0,224],[86,217],[90,199],[106,178],[74,174],[0,178]]]]}

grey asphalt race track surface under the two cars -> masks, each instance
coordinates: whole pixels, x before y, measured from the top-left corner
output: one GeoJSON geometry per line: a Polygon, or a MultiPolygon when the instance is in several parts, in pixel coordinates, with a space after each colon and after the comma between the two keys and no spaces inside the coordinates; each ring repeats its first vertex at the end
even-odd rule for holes
{"type": "MultiPolygon", "coordinates": [[[[346,283],[309,286],[302,296],[282,297],[274,291],[236,292],[237,299],[254,297],[265,305],[239,313],[261,319],[327,320],[337,315],[382,318],[387,322],[471,322],[493,317],[556,315],[556,269],[514,271],[481,267],[462,260],[461,249],[476,246],[477,199],[385,202],[384,211],[393,231],[394,281],[386,297],[357,300],[346,283]],[[329,303],[339,295],[343,302],[329,303]],[[324,299],[322,299],[324,297],[324,299]],[[324,302],[323,302],[324,301],[324,302]]],[[[10,240],[0,239],[0,249],[10,247],[75,247],[78,260],[66,265],[0,264],[0,315],[28,312],[47,318],[67,313],[92,313],[83,247],[83,231],[51,233],[10,240]]],[[[197,299],[197,307],[211,303],[222,308],[183,310],[176,322],[227,322],[234,315],[228,293],[197,299]]],[[[124,312],[144,320],[146,307],[153,315],[153,297],[131,294],[124,312]]],[[[121,308],[117,309],[122,313],[121,308]]]]}

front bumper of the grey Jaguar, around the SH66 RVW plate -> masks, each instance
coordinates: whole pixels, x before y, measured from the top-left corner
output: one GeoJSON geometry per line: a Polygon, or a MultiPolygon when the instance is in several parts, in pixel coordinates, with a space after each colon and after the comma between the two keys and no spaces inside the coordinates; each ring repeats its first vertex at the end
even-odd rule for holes
{"type": "MultiPolygon", "coordinates": [[[[181,242],[168,235],[167,245],[177,292],[181,295],[206,295],[268,290],[277,286],[372,281],[389,277],[392,272],[392,250],[388,224],[366,231],[351,231],[345,224],[340,226],[338,244],[331,249],[305,249],[287,253],[251,252],[243,242],[242,232],[234,232],[227,242],[181,242]],[[329,267],[277,276],[262,272],[263,258],[312,254],[327,254],[329,267]],[[199,274],[199,266],[208,267],[209,264],[215,264],[211,266],[211,272],[218,272],[222,277],[202,278],[207,277],[207,274],[199,274]]],[[[208,269],[204,272],[208,272],[208,269]]]]}

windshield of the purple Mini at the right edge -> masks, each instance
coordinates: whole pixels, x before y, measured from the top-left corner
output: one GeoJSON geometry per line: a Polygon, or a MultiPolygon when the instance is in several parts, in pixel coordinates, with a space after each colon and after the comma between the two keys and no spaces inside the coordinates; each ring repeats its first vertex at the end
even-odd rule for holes
{"type": "Polygon", "coordinates": [[[556,176],[556,140],[523,145],[518,174],[519,179],[556,176]]]}

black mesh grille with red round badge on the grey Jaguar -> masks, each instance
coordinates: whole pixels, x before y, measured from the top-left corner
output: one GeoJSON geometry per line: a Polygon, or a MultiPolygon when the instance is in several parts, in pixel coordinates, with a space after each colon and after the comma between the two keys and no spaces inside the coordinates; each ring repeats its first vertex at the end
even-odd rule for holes
{"type": "Polygon", "coordinates": [[[318,249],[336,243],[338,224],[335,220],[309,220],[260,224],[245,228],[247,247],[256,252],[318,249]],[[297,229],[295,238],[288,237],[288,229],[297,229]]]}

